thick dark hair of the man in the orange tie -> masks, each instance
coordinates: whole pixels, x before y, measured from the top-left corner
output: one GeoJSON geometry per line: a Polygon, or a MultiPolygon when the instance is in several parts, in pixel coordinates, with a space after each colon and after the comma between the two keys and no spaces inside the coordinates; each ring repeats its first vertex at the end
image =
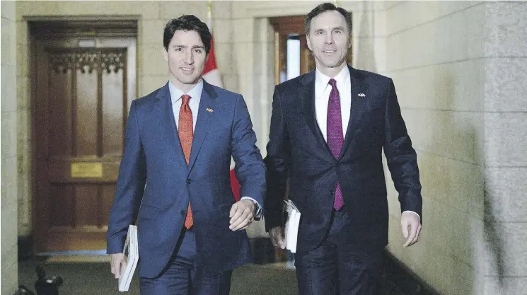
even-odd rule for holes
{"type": "Polygon", "coordinates": [[[193,16],[192,14],[183,15],[179,18],[173,18],[168,21],[165,25],[165,31],[163,33],[163,46],[165,50],[168,50],[168,44],[174,36],[176,30],[190,31],[195,30],[199,37],[202,38],[203,45],[205,45],[205,52],[209,54],[210,51],[210,42],[212,40],[212,34],[210,33],[209,27],[207,24],[200,21],[199,18],[193,16]]]}

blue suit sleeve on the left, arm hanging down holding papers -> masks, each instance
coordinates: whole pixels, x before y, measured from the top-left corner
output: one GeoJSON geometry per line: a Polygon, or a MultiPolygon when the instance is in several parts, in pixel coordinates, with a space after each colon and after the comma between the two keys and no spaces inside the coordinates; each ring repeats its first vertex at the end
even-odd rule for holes
{"type": "Polygon", "coordinates": [[[108,224],[107,252],[121,253],[128,226],[134,224],[146,183],[146,159],[139,136],[135,100],[130,106],[124,137],[117,187],[110,222],[108,224]]]}

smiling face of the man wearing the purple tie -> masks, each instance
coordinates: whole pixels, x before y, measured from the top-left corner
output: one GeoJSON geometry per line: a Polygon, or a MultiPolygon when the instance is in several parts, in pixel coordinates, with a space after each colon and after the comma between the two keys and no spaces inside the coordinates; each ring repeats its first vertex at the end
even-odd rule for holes
{"type": "Polygon", "coordinates": [[[338,11],[325,11],[311,19],[307,36],[309,49],[315,57],[317,69],[323,74],[345,63],[349,42],[349,28],[338,11]]]}

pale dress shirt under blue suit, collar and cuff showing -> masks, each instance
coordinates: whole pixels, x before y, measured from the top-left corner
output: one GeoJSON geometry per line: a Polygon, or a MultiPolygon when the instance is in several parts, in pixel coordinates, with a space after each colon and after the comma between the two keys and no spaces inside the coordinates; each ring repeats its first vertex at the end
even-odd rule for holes
{"type": "MultiPolygon", "coordinates": [[[[172,81],[168,81],[168,90],[170,91],[170,100],[172,101],[172,111],[174,112],[175,127],[178,128],[178,130],[180,108],[181,104],[183,103],[181,96],[183,96],[183,94],[187,94],[188,96],[190,96],[188,106],[190,107],[190,111],[192,111],[192,131],[195,131],[197,112],[199,110],[199,102],[202,100],[203,79],[199,81],[199,83],[197,83],[196,86],[190,89],[190,91],[188,91],[187,93],[175,87],[172,81]]],[[[260,215],[262,214],[262,207],[260,206],[260,204],[258,204],[258,202],[256,202],[256,200],[252,197],[242,197],[241,199],[250,199],[251,201],[255,202],[258,207],[255,217],[260,218],[260,215]]]]}

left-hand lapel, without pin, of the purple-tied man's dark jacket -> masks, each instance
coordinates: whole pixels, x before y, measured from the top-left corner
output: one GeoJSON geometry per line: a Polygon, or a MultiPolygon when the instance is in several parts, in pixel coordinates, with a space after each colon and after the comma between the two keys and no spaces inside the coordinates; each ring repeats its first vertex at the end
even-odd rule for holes
{"type": "MultiPolygon", "coordinates": [[[[299,90],[299,98],[302,101],[302,113],[306,118],[308,127],[315,135],[320,146],[326,151],[326,154],[331,156],[331,151],[328,143],[325,141],[320,127],[318,127],[316,112],[315,112],[315,71],[311,71],[300,81],[303,86],[299,90]]],[[[332,156],[331,156],[332,157],[332,156]]]]}

